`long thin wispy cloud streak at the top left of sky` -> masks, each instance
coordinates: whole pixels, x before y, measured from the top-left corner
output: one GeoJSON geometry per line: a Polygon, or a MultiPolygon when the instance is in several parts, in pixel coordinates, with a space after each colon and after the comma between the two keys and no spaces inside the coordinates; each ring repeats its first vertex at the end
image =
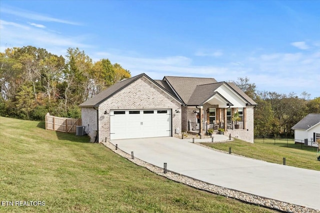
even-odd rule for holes
{"type": "Polygon", "coordinates": [[[18,17],[23,17],[23,18],[26,18],[26,19],[31,19],[31,20],[47,21],[47,22],[58,22],[58,23],[72,24],[72,25],[80,25],[77,22],[63,20],[63,19],[59,19],[59,18],[53,18],[53,17],[47,16],[47,15],[35,13],[33,11],[22,10],[22,9],[16,8],[16,7],[13,8],[13,7],[1,6],[0,7],[0,12],[1,13],[7,13],[7,14],[15,15],[15,16],[18,16],[18,17]]]}

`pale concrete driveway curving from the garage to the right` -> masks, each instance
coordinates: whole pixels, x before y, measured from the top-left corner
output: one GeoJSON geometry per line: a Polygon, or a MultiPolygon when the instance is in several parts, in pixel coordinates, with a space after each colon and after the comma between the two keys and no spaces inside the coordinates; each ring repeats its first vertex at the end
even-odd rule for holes
{"type": "Polygon", "coordinates": [[[189,141],[161,137],[111,143],[145,162],[161,168],[167,163],[168,170],[210,184],[320,210],[320,172],[224,154],[189,141]]]}

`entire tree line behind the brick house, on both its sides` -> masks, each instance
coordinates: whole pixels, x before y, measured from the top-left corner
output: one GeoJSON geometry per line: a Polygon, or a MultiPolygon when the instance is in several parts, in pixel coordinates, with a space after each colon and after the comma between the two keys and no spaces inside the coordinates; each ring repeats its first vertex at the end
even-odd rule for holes
{"type": "MultiPolygon", "coordinates": [[[[68,48],[65,57],[33,46],[0,53],[0,116],[44,120],[47,112],[80,118],[78,105],[130,72],[108,59],[92,62],[84,51],[68,48]]],[[[320,97],[303,92],[258,91],[247,77],[233,81],[252,98],[255,137],[292,136],[290,128],[308,113],[320,113],[320,97]]]]}

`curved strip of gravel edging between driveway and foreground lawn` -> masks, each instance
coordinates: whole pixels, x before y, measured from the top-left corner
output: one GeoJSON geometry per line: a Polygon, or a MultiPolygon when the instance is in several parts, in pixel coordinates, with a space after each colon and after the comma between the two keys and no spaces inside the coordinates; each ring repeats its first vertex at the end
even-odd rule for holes
{"type": "MultiPolygon", "coordinates": [[[[212,185],[203,181],[199,181],[197,179],[193,179],[191,177],[188,176],[184,176],[172,171],[167,170],[167,173],[164,174],[163,173],[163,168],[154,166],[152,164],[149,164],[147,162],[144,162],[138,158],[131,159],[131,155],[122,151],[121,149],[117,148],[117,150],[115,150],[115,145],[113,145],[110,142],[102,142],[102,144],[109,148],[111,151],[113,151],[114,153],[120,155],[123,158],[126,158],[127,160],[131,161],[132,163],[144,167],[147,170],[160,175],[162,177],[165,177],[169,180],[178,182],[178,183],[182,183],[185,185],[188,185],[190,187],[199,189],[199,190],[203,190],[209,193],[213,193],[216,195],[221,195],[227,198],[233,198],[236,199],[238,201],[244,202],[244,203],[248,203],[248,204],[253,204],[253,205],[257,205],[257,206],[261,206],[267,209],[271,209],[271,210],[276,210],[279,212],[288,212],[288,213],[320,213],[320,210],[314,210],[314,209],[310,209],[307,207],[302,207],[302,206],[298,206],[298,205],[294,205],[294,204],[289,204],[289,203],[285,203],[285,202],[281,202],[281,201],[276,201],[276,200],[272,200],[272,199],[268,199],[268,198],[263,198],[260,196],[256,196],[256,195],[252,195],[252,194],[248,194],[248,193],[243,193],[240,191],[236,191],[236,190],[232,190],[232,189],[227,189],[224,187],[219,187],[216,185],[212,185]]],[[[204,145],[201,145],[204,146],[204,145]]]]}

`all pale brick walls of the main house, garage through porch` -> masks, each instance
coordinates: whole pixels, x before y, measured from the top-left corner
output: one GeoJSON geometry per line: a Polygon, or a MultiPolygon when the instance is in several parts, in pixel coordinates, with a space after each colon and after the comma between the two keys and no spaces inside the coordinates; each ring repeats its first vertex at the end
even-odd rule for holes
{"type": "MultiPolygon", "coordinates": [[[[115,90],[114,90],[115,91],[115,90]]],[[[232,95],[231,93],[230,95],[232,95]]],[[[106,98],[106,97],[105,97],[106,98]]],[[[96,102],[95,102],[96,103],[96,102]]],[[[211,102],[212,103],[212,102],[211,102]]],[[[94,104],[93,104],[94,105],[94,104]]],[[[208,108],[219,108],[219,105],[203,104],[203,122],[207,122],[208,108]]],[[[225,106],[224,106],[225,107],[225,106]]],[[[225,135],[231,134],[231,137],[253,143],[253,106],[245,107],[243,110],[243,120],[245,129],[227,129],[225,135]]],[[[222,108],[220,107],[221,109],[222,108]]],[[[233,108],[236,108],[233,106],[233,108]]],[[[98,131],[98,142],[105,139],[110,140],[110,110],[142,110],[142,109],[170,109],[171,110],[171,134],[173,137],[180,137],[181,132],[188,130],[188,121],[191,121],[191,127],[197,128],[196,113],[199,111],[195,106],[181,106],[181,103],[158,87],[152,80],[146,76],[141,76],[122,90],[117,91],[113,96],[99,104],[98,107],[81,107],[82,125],[85,126],[85,132],[92,137],[93,131],[98,131]],[[178,109],[179,112],[176,112],[178,109]],[[104,112],[106,111],[106,114],[104,112]]],[[[220,111],[220,120],[224,121],[224,110],[220,111]]],[[[216,114],[217,116],[217,114],[216,114]]],[[[219,118],[216,118],[219,120],[219,118]]],[[[206,126],[203,125],[206,129],[206,126]]],[[[203,131],[205,134],[205,130],[203,131]]]]}

